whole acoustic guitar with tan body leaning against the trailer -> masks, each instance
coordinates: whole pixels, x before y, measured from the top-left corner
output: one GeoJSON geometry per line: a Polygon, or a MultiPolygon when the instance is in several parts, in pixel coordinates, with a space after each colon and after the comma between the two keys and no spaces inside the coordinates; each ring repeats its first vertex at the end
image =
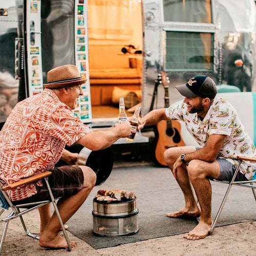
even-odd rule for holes
{"type": "MultiPolygon", "coordinates": [[[[160,72],[161,84],[164,87],[164,108],[169,107],[169,78],[165,72],[160,72]]],[[[181,125],[179,121],[163,120],[155,126],[155,157],[159,164],[167,166],[163,154],[169,147],[184,146],[180,135],[181,125]]]]}

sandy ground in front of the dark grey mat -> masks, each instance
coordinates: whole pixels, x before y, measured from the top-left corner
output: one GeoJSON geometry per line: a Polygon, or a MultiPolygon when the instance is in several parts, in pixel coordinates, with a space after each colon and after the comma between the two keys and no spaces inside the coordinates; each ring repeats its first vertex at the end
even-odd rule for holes
{"type": "MultiPolygon", "coordinates": [[[[38,212],[25,215],[31,232],[38,232],[38,212]]],[[[0,223],[0,230],[3,230],[0,223]]],[[[86,242],[68,232],[69,238],[77,243],[71,252],[41,248],[37,240],[26,236],[19,220],[10,222],[2,255],[255,255],[256,222],[244,222],[217,227],[211,236],[203,240],[188,241],[183,235],[124,244],[95,250],[86,242]]]]}

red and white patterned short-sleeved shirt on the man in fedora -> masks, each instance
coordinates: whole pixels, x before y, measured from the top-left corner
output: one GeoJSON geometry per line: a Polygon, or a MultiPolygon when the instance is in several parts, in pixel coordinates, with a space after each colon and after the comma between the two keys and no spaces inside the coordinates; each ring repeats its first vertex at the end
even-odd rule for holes
{"type": "MultiPolygon", "coordinates": [[[[11,184],[54,167],[65,145],[92,130],[49,89],[15,106],[0,132],[0,179],[11,184]]],[[[36,194],[41,181],[9,190],[12,201],[36,194]]]]}

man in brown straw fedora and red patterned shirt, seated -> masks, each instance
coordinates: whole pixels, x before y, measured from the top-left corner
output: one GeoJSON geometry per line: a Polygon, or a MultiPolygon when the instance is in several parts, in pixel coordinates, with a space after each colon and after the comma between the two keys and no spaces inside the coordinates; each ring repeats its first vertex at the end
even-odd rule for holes
{"type": "MultiPolygon", "coordinates": [[[[116,124],[109,130],[92,131],[72,112],[82,95],[81,79],[76,66],[65,65],[48,72],[45,90],[16,104],[0,132],[0,180],[4,185],[51,170],[49,183],[63,223],[82,205],[95,185],[96,175],[87,166],[74,165],[77,154],[64,149],[77,142],[92,151],[109,147],[119,138],[131,135],[129,122],[116,124]],[[59,159],[69,166],[54,168],[59,159]],[[8,163],[8,164],[7,164],[8,163]]],[[[15,204],[48,198],[44,181],[30,183],[9,192],[15,204]]],[[[65,238],[58,235],[60,224],[50,205],[39,208],[39,245],[67,248],[65,238]]],[[[74,242],[71,242],[75,246],[74,242]]]]}

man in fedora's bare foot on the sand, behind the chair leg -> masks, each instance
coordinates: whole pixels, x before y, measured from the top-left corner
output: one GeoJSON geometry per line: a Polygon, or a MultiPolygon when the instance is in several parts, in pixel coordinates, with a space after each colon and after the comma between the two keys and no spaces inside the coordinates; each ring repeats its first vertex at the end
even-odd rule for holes
{"type": "MultiPolygon", "coordinates": [[[[53,239],[48,239],[48,238],[40,236],[38,243],[41,247],[45,247],[45,248],[51,248],[51,249],[66,249],[66,248],[68,248],[66,239],[64,237],[61,237],[59,234],[57,234],[57,236],[53,239]]],[[[76,247],[75,242],[70,241],[70,244],[72,247],[76,247]]]]}

